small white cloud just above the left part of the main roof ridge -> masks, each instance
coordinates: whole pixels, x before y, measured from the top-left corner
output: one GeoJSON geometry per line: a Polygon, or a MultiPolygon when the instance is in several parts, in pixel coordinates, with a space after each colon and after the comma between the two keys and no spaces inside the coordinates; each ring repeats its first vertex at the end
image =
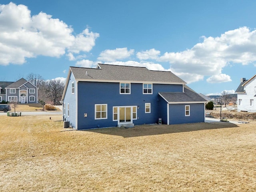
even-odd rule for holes
{"type": "Polygon", "coordinates": [[[127,48],[116,48],[114,50],[107,49],[100,53],[98,60],[104,60],[105,62],[108,62],[108,61],[112,62],[112,61],[128,58],[132,54],[134,54],[134,49],[131,49],[129,51],[127,48]]]}

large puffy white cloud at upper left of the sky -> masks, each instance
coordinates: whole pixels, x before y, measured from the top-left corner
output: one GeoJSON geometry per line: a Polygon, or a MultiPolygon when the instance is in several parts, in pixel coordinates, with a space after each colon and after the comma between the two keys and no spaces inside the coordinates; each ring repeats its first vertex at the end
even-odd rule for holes
{"type": "Polygon", "coordinates": [[[89,52],[99,37],[89,29],[76,36],[72,32],[66,23],[46,13],[31,16],[27,6],[0,5],[0,65],[23,64],[38,55],[89,52]]]}

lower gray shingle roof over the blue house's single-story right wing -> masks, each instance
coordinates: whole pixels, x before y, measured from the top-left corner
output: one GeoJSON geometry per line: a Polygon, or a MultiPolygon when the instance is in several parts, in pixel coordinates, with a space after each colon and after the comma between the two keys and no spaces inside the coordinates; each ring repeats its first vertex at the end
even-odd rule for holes
{"type": "Polygon", "coordinates": [[[160,92],[159,94],[168,102],[207,102],[204,98],[202,98],[188,86],[184,86],[184,93],[160,92]]]}

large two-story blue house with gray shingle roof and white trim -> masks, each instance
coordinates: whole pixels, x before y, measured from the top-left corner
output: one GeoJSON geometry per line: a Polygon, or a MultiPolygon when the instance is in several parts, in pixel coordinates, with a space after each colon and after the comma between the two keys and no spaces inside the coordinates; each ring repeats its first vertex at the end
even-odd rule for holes
{"type": "Polygon", "coordinates": [[[204,122],[206,100],[172,72],[98,64],[70,67],[63,118],[77,130],[204,122]]]}

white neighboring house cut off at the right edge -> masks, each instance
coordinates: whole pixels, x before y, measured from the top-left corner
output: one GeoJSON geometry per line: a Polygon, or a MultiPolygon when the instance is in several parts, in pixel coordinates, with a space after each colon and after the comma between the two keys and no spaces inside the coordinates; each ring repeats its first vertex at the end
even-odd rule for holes
{"type": "Polygon", "coordinates": [[[240,85],[235,92],[237,93],[238,112],[256,112],[256,75],[249,80],[241,78],[240,85]]]}

